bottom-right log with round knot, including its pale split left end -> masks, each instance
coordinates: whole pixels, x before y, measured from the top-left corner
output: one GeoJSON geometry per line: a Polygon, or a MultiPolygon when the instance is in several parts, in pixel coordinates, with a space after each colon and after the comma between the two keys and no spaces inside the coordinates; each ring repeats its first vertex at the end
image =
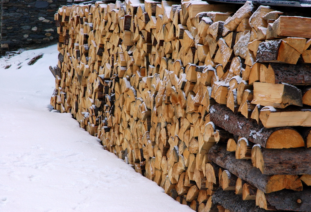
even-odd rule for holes
{"type": "Polygon", "coordinates": [[[257,190],[256,205],[266,210],[310,211],[311,190],[288,192],[276,191],[265,194],[257,190]]]}

